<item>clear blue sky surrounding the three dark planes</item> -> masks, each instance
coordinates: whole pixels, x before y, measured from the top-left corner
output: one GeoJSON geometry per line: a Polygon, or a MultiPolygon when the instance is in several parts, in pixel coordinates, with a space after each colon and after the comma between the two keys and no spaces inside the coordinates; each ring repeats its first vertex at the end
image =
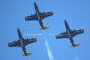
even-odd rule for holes
{"type": "Polygon", "coordinates": [[[0,59],[50,60],[49,48],[53,60],[90,60],[89,6],[89,0],[0,0],[0,59]],[[33,2],[37,3],[41,12],[54,12],[53,16],[43,20],[49,29],[41,31],[37,21],[25,21],[25,16],[35,13],[33,2]],[[80,43],[79,47],[71,48],[69,39],[55,39],[54,35],[66,31],[64,19],[71,29],[85,29],[85,33],[74,37],[74,41],[80,43]],[[32,52],[31,56],[23,57],[21,48],[8,47],[9,42],[18,40],[17,28],[20,28],[24,38],[38,39],[26,47],[32,52]]]}

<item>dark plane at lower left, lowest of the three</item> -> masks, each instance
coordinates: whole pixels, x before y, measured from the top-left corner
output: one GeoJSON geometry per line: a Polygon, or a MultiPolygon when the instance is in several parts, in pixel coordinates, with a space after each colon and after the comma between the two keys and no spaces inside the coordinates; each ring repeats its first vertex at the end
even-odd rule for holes
{"type": "Polygon", "coordinates": [[[22,47],[22,50],[24,52],[23,56],[31,55],[32,54],[31,52],[27,53],[25,46],[28,45],[28,44],[36,42],[37,39],[36,38],[24,39],[22,37],[22,34],[21,34],[19,29],[18,29],[18,36],[19,36],[18,41],[14,41],[14,42],[8,43],[8,47],[22,47]]]}

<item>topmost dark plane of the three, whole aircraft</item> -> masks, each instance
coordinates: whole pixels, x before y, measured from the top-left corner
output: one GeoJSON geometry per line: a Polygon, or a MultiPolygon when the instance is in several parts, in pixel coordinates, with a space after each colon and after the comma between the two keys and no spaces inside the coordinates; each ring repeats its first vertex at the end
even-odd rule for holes
{"type": "Polygon", "coordinates": [[[47,26],[43,26],[42,20],[46,17],[52,16],[53,12],[40,12],[39,8],[35,2],[34,2],[34,7],[35,7],[36,13],[33,15],[31,14],[30,16],[26,16],[25,20],[26,21],[39,21],[39,24],[41,26],[40,29],[41,30],[47,29],[48,28],[47,26]]]}

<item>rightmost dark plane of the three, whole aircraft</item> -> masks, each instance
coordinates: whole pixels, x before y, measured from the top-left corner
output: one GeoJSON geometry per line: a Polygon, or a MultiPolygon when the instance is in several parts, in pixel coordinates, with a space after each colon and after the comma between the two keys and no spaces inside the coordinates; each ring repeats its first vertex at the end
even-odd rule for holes
{"type": "Polygon", "coordinates": [[[65,23],[65,26],[66,26],[66,32],[63,32],[61,34],[56,35],[56,39],[59,39],[59,38],[69,38],[70,42],[72,44],[71,47],[79,46],[79,44],[75,44],[74,43],[73,37],[76,36],[76,35],[79,35],[81,33],[84,33],[84,29],[79,29],[79,30],[75,30],[74,29],[74,30],[71,30],[66,20],[64,20],[64,23],[65,23]]]}

